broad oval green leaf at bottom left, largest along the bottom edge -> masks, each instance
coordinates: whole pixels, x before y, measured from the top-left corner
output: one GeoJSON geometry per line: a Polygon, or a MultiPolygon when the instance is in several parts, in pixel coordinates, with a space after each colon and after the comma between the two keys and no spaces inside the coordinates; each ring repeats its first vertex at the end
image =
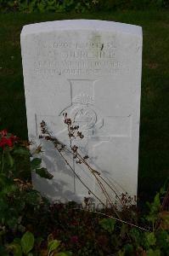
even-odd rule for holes
{"type": "Polygon", "coordinates": [[[34,247],[34,236],[30,231],[26,231],[21,238],[21,246],[24,253],[29,253],[34,247]]]}

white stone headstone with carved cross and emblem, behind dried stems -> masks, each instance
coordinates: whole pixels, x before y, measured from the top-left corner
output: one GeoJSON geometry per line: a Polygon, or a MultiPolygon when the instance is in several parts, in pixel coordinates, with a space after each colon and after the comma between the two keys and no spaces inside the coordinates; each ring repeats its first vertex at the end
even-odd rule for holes
{"type": "MultiPolygon", "coordinates": [[[[29,139],[42,143],[52,180],[32,175],[50,200],[82,201],[87,189],[51,143],[40,123],[69,143],[63,113],[80,125],[76,144],[119,193],[137,195],[142,29],[104,20],[59,20],[24,26],[21,50],[29,139]]],[[[75,172],[104,200],[95,177],[68,155],[75,172]]]]}

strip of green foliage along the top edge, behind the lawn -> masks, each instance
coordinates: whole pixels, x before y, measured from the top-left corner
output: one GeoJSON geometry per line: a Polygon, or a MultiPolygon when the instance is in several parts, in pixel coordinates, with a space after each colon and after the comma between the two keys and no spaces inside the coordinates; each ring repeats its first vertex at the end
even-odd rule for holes
{"type": "Polygon", "coordinates": [[[0,0],[2,12],[85,12],[89,10],[167,7],[167,0],[0,0]]]}

